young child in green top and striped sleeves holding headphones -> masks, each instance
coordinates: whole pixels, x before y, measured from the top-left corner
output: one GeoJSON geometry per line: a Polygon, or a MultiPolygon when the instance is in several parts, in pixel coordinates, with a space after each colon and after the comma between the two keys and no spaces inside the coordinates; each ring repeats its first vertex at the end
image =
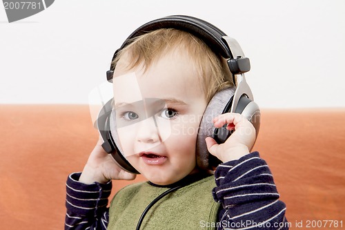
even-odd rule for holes
{"type": "Polygon", "coordinates": [[[214,175],[197,166],[205,108],[215,93],[233,87],[219,55],[168,28],[137,37],[114,64],[119,142],[148,182],[121,189],[108,208],[112,180],[135,175],[120,169],[99,140],[83,172],[68,177],[65,229],[288,229],[273,176],[259,153],[250,153],[255,128],[244,116],[213,119],[215,127],[235,131],[224,144],[206,138],[208,151],[224,162],[214,175]],[[177,189],[144,211],[170,188],[177,189]]]}

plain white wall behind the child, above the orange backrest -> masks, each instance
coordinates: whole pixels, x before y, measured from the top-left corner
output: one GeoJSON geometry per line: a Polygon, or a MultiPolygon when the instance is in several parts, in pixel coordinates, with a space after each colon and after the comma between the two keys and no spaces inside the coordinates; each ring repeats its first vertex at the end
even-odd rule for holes
{"type": "Polygon", "coordinates": [[[177,14],[239,41],[262,108],[345,106],[343,0],[59,0],[14,23],[1,6],[0,104],[88,104],[130,32],[177,14]]]}

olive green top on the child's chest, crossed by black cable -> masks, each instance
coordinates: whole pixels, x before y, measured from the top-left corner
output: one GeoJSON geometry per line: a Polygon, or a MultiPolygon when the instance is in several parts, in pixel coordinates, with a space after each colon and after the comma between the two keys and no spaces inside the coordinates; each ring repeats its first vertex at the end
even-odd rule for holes
{"type": "MultiPolygon", "coordinates": [[[[212,195],[215,186],[211,175],[169,193],[148,211],[141,229],[215,229],[205,227],[217,222],[219,203],[212,195]]],[[[108,229],[135,230],[148,204],[168,189],[148,182],[121,189],[110,204],[108,229]]]]}

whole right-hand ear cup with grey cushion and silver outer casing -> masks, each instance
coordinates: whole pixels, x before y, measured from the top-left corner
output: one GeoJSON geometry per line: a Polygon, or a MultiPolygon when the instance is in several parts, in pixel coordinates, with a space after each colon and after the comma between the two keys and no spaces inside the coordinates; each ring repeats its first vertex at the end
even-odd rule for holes
{"type": "MultiPolygon", "coordinates": [[[[214,170],[221,161],[208,152],[205,139],[213,137],[218,144],[226,142],[232,132],[226,129],[226,125],[221,128],[215,128],[213,118],[217,115],[228,113],[233,106],[233,97],[235,87],[226,88],[219,91],[213,96],[208,103],[204,115],[201,119],[199,132],[197,135],[197,166],[199,169],[214,170]]],[[[246,95],[242,95],[239,99],[235,113],[244,115],[255,127],[256,135],[259,132],[260,111],[259,106],[246,95]]]]}

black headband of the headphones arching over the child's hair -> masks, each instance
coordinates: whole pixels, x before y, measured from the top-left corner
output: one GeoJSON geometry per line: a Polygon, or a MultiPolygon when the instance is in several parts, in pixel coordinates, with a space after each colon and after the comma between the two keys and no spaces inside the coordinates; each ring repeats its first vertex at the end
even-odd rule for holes
{"type": "MultiPolygon", "coordinates": [[[[219,30],[219,28],[213,26],[207,21],[185,15],[168,16],[150,21],[148,23],[145,23],[143,26],[140,26],[139,28],[137,28],[137,30],[132,32],[132,34],[126,39],[124,44],[122,44],[122,46],[118,50],[116,50],[112,57],[112,60],[117,57],[119,50],[122,50],[123,48],[128,46],[128,44],[130,44],[133,38],[161,28],[175,28],[177,30],[184,30],[195,35],[196,37],[204,41],[204,43],[208,47],[210,47],[213,52],[221,55],[225,59],[228,59],[228,65],[233,75],[246,73],[250,70],[249,59],[245,57],[234,59],[233,52],[230,50],[228,42],[224,40],[224,36],[226,36],[226,34],[223,31],[219,30]]],[[[110,70],[107,71],[107,79],[109,82],[112,81],[112,74],[114,73],[114,70],[115,66],[112,66],[112,64],[110,64],[110,70]]]]}

